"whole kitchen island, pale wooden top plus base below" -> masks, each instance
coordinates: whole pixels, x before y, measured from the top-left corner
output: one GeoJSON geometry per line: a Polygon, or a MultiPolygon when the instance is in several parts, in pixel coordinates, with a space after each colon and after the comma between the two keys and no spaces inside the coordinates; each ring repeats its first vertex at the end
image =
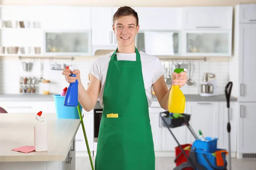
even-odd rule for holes
{"type": "Polygon", "coordinates": [[[43,113],[48,122],[48,150],[22,153],[20,146],[34,146],[35,113],[0,113],[0,170],[75,170],[75,136],[80,119],[57,119],[43,113]]]}

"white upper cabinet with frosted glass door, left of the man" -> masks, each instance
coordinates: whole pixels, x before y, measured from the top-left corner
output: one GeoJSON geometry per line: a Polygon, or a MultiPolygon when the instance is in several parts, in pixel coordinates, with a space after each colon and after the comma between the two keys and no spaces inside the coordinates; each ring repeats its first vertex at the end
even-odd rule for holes
{"type": "Polygon", "coordinates": [[[91,55],[91,7],[46,7],[44,54],[91,55]]]}

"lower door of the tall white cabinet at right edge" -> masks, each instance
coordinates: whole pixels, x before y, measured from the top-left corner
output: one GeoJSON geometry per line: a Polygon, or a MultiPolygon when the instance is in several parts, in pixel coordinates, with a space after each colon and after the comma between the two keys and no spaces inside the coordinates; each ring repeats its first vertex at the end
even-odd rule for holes
{"type": "Polygon", "coordinates": [[[256,153],[256,102],[240,102],[238,108],[238,153],[256,153]]]}

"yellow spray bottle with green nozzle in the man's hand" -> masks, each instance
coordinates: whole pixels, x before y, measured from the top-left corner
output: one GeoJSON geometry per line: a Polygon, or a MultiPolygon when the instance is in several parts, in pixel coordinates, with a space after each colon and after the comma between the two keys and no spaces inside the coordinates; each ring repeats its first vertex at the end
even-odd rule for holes
{"type": "MultiPolygon", "coordinates": [[[[176,68],[175,73],[179,74],[183,71],[187,71],[186,68],[176,68]]],[[[179,85],[172,85],[169,93],[168,110],[169,113],[184,113],[185,110],[185,96],[180,90],[179,85]]]]}

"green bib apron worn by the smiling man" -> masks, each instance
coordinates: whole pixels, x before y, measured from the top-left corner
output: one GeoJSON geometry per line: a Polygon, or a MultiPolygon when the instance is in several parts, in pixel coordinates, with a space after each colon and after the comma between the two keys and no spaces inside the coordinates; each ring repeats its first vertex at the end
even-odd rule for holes
{"type": "Polygon", "coordinates": [[[155,170],[154,144],[140,53],[136,61],[113,52],[103,92],[95,170],[155,170]],[[107,118],[118,113],[118,118],[107,118]]]}

